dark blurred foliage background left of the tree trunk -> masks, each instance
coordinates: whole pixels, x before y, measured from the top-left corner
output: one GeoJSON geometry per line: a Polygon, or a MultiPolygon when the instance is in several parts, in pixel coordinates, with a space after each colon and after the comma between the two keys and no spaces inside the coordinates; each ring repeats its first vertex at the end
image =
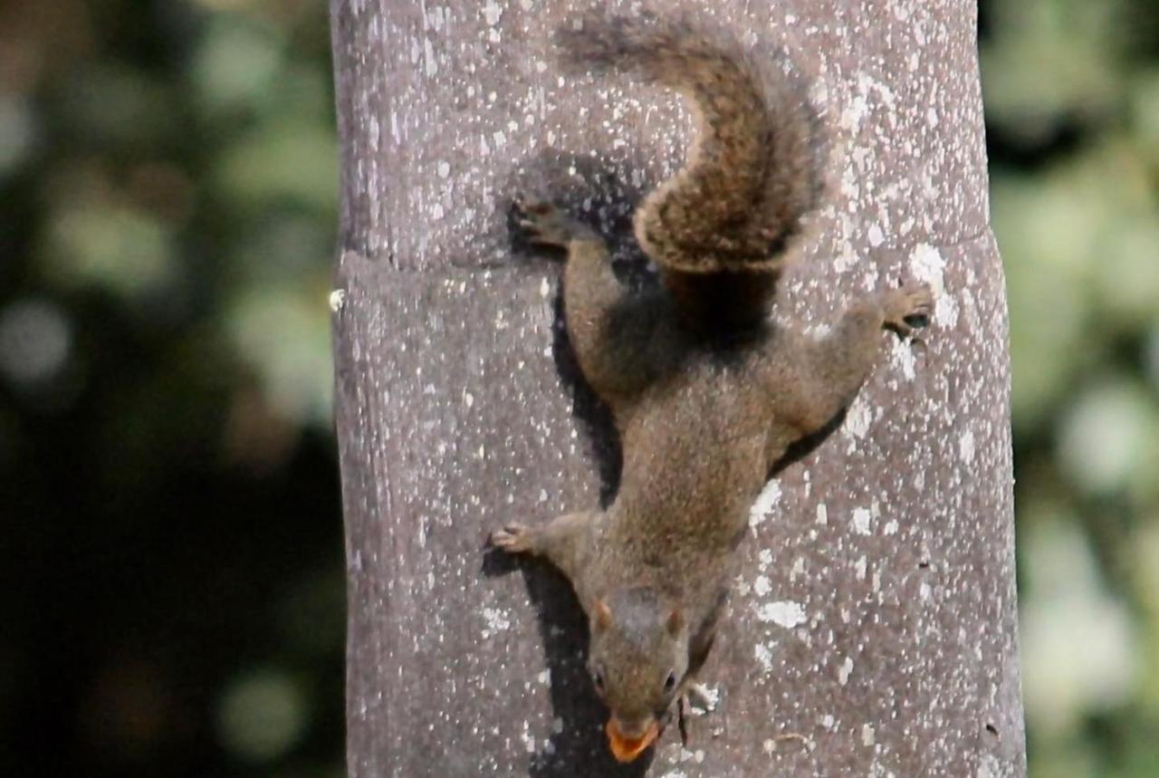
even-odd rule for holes
{"type": "Polygon", "coordinates": [[[2,775],[344,775],[329,49],[0,3],[2,775]]]}

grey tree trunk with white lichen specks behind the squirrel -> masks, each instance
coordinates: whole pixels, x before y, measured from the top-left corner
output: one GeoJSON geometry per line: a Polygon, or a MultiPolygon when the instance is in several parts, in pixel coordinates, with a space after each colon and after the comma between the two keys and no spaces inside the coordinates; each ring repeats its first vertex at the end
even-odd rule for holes
{"type": "Polygon", "coordinates": [[[779,315],[831,321],[916,276],[940,293],[927,346],[892,347],[753,508],[705,672],[719,710],[688,748],[670,728],[614,764],[567,583],[484,550],[501,522],[606,500],[617,473],[561,337],[559,266],[512,249],[509,206],[555,197],[622,235],[679,166],[687,112],[562,79],[547,36],[567,0],[333,0],[350,775],[1021,776],[974,1],[653,5],[710,9],[814,83],[830,187],[779,315]]]}

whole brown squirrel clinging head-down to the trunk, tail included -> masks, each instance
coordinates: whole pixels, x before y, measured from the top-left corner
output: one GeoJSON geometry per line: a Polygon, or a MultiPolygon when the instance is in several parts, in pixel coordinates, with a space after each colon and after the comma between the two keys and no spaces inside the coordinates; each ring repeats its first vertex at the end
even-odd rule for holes
{"type": "Polygon", "coordinates": [[[490,543],[546,558],[589,620],[588,668],[630,762],[698,690],[749,511],[789,446],[832,427],[933,293],[869,293],[823,335],[773,323],[789,241],[821,197],[816,118],[794,79],[684,19],[588,16],[555,34],[564,64],[671,88],[695,115],[685,167],[636,208],[659,283],[629,291],[603,238],[544,202],[518,204],[532,243],[563,248],[563,314],[583,377],[622,446],[606,510],[508,523],[490,543]]]}

